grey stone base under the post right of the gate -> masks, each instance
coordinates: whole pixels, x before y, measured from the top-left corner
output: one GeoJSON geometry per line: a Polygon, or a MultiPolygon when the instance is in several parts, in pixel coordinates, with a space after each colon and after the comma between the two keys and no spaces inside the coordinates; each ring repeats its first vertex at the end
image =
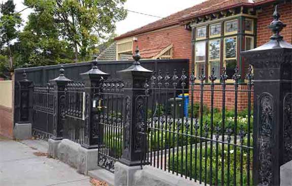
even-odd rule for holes
{"type": "Polygon", "coordinates": [[[130,186],[135,184],[135,173],[141,170],[141,166],[129,167],[120,162],[115,163],[115,186],[130,186]]]}

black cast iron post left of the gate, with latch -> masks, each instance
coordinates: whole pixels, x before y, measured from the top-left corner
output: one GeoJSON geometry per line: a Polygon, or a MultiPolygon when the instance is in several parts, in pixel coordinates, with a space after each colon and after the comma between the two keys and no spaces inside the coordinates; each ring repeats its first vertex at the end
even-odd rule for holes
{"type": "Polygon", "coordinates": [[[102,91],[102,81],[106,80],[109,76],[108,73],[97,68],[96,58],[92,63],[92,68],[89,71],[80,74],[85,83],[86,105],[84,143],[81,146],[87,149],[97,148],[102,140],[99,125],[100,110],[102,108],[98,107],[101,106],[99,104],[102,100],[102,94],[100,94],[102,91]]]}

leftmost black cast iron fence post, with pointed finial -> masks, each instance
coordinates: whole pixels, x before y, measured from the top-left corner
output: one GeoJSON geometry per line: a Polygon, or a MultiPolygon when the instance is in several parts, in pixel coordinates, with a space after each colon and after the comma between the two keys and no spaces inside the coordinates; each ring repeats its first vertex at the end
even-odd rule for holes
{"type": "Polygon", "coordinates": [[[23,79],[18,82],[19,101],[18,101],[18,121],[16,123],[29,123],[32,121],[32,88],[33,83],[29,81],[25,70],[23,71],[23,79]]]}

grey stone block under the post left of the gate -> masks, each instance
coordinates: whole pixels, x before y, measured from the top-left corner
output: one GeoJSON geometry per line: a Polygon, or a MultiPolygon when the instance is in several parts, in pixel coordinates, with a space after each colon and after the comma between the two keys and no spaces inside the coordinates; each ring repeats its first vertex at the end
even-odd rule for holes
{"type": "Polygon", "coordinates": [[[98,168],[97,151],[97,149],[86,149],[79,146],[79,162],[77,166],[77,171],[79,173],[87,175],[88,171],[98,168]]]}

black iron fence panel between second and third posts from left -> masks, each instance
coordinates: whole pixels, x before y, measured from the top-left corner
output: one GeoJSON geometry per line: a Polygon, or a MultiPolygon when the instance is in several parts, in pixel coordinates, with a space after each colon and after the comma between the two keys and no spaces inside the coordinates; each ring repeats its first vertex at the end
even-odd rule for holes
{"type": "Polygon", "coordinates": [[[63,137],[82,144],[85,125],[85,91],[83,82],[70,82],[65,89],[64,110],[61,111],[63,137]]]}

